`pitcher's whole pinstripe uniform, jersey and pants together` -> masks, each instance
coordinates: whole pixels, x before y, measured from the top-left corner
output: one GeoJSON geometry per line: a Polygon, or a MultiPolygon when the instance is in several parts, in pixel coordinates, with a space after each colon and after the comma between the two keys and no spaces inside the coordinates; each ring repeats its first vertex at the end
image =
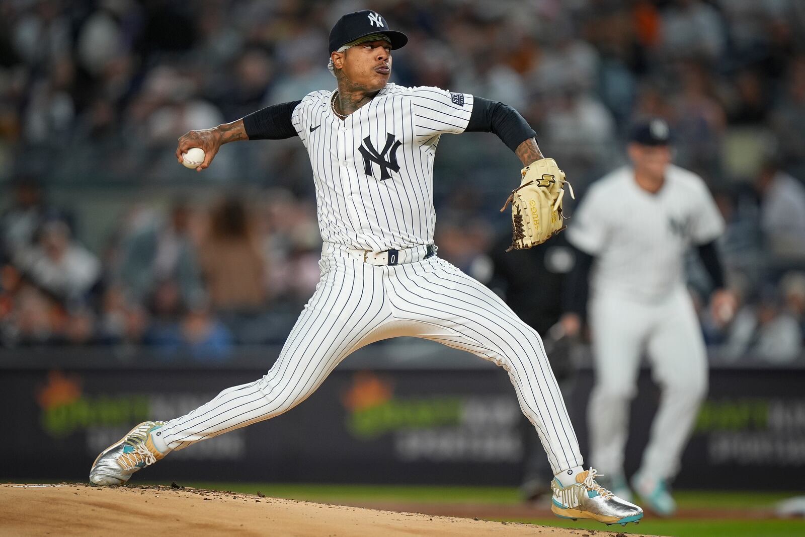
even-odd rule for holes
{"type": "Polygon", "coordinates": [[[464,131],[473,97],[388,85],[343,122],[332,114],[330,97],[311,93],[293,114],[310,154],[325,241],[315,294],[265,377],[224,390],[157,434],[180,449],[269,419],[308,398],[354,350],[413,336],[506,369],[554,472],[581,465],[539,335],[481,283],[436,255],[426,257],[436,145],[440,134],[464,131]],[[356,250],[399,250],[399,264],[375,266],[356,250]]]}

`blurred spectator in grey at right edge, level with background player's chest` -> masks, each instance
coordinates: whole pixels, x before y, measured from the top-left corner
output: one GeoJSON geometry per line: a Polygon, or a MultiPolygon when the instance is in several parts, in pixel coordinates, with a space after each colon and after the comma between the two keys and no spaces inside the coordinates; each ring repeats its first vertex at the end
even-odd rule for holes
{"type": "Polygon", "coordinates": [[[766,163],[755,180],[761,198],[760,224],[775,257],[805,258],[805,186],[766,163]]]}

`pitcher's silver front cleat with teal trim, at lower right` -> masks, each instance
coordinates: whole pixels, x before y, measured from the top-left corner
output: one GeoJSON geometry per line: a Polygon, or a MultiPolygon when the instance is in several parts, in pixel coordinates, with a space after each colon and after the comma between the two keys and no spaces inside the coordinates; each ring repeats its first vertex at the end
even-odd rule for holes
{"type": "Polygon", "coordinates": [[[551,510],[559,518],[591,518],[610,524],[638,523],[643,518],[643,510],[618,498],[595,481],[597,475],[593,468],[576,475],[576,483],[564,486],[556,479],[551,481],[551,510]]]}

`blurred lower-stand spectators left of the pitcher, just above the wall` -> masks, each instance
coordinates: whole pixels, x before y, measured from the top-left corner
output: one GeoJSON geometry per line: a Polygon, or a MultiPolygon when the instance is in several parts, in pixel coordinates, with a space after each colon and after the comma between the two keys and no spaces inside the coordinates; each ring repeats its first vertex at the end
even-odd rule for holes
{"type": "Polygon", "coordinates": [[[151,345],[229,357],[281,343],[319,280],[315,209],[285,190],[135,204],[99,253],[30,179],[2,217],[0,345],[151,345]]]}

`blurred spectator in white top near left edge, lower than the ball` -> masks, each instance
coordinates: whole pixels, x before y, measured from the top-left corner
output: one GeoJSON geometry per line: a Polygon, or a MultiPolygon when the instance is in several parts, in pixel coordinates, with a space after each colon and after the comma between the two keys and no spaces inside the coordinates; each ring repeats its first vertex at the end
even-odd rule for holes
{"type": "Polygon", "coordinates": [[[101,262],[72,240],[63,221],[48,221],[39,230],[39,243],[19,250],[18,266],[37,287],[65,301],[84,299],[101,276],[101,262]]]}

